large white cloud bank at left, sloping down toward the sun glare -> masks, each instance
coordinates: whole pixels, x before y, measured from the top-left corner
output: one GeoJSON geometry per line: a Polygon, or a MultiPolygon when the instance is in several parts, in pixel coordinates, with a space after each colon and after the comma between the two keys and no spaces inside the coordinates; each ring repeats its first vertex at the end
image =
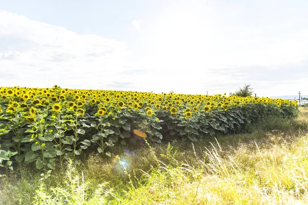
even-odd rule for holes
{"type": "Polygon", "coordinates": [[[0,70],[19,77],[2,86],[102,88],[126,61],[126,43],[0,11],[0,70]]]}

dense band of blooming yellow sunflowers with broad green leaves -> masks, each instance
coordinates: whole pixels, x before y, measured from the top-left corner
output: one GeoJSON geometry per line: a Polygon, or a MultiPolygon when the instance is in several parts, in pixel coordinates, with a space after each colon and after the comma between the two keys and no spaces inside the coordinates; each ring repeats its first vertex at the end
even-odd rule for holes
{"type": "Polygon", "coordinates": [[[0,166],[62,168],[87,150],[110,156],[110,147],[125,146],[133,130],[154,142],[197,141],[296,113],[296,101],[264,97],[0,87],[0,166]]]}

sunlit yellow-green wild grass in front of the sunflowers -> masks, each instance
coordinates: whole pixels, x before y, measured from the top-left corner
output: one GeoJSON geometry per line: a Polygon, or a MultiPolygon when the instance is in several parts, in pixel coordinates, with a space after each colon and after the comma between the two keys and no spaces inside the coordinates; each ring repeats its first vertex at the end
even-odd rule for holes
{"type": "MultiPolygon", "coordinates": [[[[121,147],[119,147],[121,148],[121,147]]],[[[308,204],[308,110],[247,133],[170,141],[1,179],[0,204],[308,204]]]]}

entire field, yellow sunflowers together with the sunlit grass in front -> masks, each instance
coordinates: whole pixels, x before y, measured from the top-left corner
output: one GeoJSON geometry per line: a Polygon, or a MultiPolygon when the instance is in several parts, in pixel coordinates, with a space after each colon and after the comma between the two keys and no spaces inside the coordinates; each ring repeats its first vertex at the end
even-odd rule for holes
{"type": "Polygon", "coordinates": [[[3,204],[308,203],[296,102],[1,89],[3,204]],[[127,145],[133,130],[145,144],[127,145]]]}

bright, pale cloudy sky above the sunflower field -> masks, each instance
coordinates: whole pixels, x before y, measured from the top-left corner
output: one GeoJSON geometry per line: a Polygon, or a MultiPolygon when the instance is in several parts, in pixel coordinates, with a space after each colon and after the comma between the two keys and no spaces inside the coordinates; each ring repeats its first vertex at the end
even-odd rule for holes
{"type": "Polygon", "coordinates": [[[0,86],[308,94],[308,1],[0,0],[0,86]]]}

